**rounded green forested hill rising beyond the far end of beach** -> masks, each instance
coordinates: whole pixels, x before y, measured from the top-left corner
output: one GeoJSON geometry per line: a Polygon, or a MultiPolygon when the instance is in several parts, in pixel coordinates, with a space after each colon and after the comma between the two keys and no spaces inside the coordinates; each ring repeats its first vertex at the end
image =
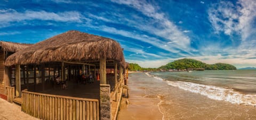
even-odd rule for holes
{"type": "Polygon", "coordinates": [[[187,68],[205,68],[206,70],[235,70],[236,67],[226,63],[215,63],[213,65],[194,59],[180,59],[167,63],[159,69],[187,69],[187,68]]]}

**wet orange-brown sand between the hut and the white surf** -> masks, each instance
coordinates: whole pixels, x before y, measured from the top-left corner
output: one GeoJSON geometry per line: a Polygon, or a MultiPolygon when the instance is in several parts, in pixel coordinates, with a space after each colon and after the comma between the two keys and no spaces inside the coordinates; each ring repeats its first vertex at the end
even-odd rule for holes
{"type": "Polygon", "coordinates": [[[256,119],[256,107],[213,100],[170,86],[145,73],[129,74],[130,104],[118,119],[256,119]],[[158,108],[159,106],[159,108],[158,108]]]}

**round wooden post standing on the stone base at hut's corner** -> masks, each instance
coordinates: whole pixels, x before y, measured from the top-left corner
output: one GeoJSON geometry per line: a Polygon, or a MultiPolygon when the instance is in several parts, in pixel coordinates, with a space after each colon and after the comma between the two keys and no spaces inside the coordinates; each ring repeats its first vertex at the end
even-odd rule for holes
{"type": "Polygon", "coordinates": [[[100,58],[100,84],[107,84],[106,58],[100,58]]]}

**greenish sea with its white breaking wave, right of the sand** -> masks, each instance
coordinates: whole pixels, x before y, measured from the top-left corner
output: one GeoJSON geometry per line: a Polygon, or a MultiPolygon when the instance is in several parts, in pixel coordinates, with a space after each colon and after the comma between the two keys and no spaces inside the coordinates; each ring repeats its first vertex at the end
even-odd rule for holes
{"type": "MultiPolygon", "coordinates": [[[[168,85],[214,100],[256,107],[256,70],[205,70],[150,73],[168,85]]],[[[255,113],[256,114],[256,113],[255,113]]]]}

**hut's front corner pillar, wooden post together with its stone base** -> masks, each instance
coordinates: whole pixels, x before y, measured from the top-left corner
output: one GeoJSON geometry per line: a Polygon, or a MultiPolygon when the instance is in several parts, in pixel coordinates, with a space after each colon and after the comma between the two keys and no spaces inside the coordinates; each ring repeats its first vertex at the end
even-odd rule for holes
{"type": "Polygon", "coordinates": [[[111,119],[110,85],[106,78],[106,58],[100,59],[100,119],[111,119]]]}

